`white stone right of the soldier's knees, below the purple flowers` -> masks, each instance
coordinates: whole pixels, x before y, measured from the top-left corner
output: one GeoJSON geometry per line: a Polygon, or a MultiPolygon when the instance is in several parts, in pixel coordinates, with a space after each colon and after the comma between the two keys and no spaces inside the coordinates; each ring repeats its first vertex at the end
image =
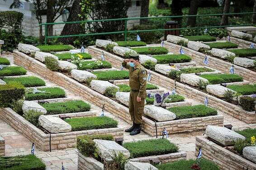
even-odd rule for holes
{"type": "Polygon", "coordinates": [[[144,107],[144,114],[156,121],[171,121],[176,118],[176,115],[173,112],[155,105],[146,105],[144,107]]]}

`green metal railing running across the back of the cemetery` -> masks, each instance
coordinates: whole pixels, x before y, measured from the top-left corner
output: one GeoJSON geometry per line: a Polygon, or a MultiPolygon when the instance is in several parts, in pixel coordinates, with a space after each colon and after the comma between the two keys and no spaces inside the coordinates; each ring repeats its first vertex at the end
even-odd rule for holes
{"type": "MultiPolygon", "coordinates": [[[[169,28],[169,29],[153,29],[153,30],[127,30],[127,21],[128,20],[137,20],[137,19],[161,19],[161,18],[187,18],[187,17],[212,17],[212,16],[222,16],[222,15],[246,15],[253,14],[251,13],[219,13],[219,14],[204,14],[204,15],[182,15],[182,16],[164,16],[164,17],[142,17],[142,18],[117,18],[117,19],[101,19],[101,20],[88,20],[88,21],[74,21],[74,22],[53,22],[53,23],[41,23],[40,26],[44,25],[44,42],[47,44],[47,39],[50,38],[63,38],[63,37],[73,37],[73,36],[97,36],[97,35],[108,35],[108,34],[124,34],[124,40],[127,40],[127,33],[131,32],[152,32],[152,31],[167,31],[167,30],[184,30],[184,29],[196,29],[199,33],[200,28],[204,27],[183,27],[183,28],[169,28]],[[124,21],[124,30],[123,31],[114,31],[114,32],[101,32],[101,33],[88,33],[88,34],[76,34],[76,35],[66,35],[66,36],[47,36],[47,25],[58,25],[58,24],[75,24],[75,23],[88,23],[88,22],[111,22],[111,21],[124,21]]],[[[237,26],[252,26],[255,24],[243,24],[243,25],[226,25],[226,26],[207,26],[207,28],[219,28],[219,27],[237,27],[237,26]]]]}

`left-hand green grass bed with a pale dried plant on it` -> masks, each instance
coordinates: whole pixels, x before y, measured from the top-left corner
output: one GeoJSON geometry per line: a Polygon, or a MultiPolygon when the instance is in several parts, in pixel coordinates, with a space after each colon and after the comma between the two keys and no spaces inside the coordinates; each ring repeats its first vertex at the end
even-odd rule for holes
{"type": "MultiPolygon", "coordinates": [[[[45,91],[49,93],[28,93],[25,95],[26,100],[43,100],[49,98],[65,98],[65,91],[59,87],[46,87],[46,88],[38,88],[40,91],[45,91]]],[[[33,89],[31,90],[33,91],[33,89]]]]}

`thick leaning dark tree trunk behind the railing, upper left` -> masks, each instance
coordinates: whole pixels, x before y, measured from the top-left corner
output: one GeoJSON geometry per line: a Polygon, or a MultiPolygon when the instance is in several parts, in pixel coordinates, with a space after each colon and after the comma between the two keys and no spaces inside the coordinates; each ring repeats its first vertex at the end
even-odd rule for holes
{"type": "MultiPolygon", "coordinates": [[[[67,22],[80,21],[80,18],[78,17],[78,14],[81,13],[81,7],[80,7],[79,3],[80,3],[80,0],[75,0],[73,2],[71,11],[67,18],[67,22]]],[[[65,24],[65,26],[63,27],[61,36],[79,34],[81,32],[81,30],[82,30],[82,28],[79,23],[65,24]]],[[[74,39],[75,39],[75,37],[65,37],[65,38],[61,38],[60,40],[63,44],[72,44],[74,39]]]]}

